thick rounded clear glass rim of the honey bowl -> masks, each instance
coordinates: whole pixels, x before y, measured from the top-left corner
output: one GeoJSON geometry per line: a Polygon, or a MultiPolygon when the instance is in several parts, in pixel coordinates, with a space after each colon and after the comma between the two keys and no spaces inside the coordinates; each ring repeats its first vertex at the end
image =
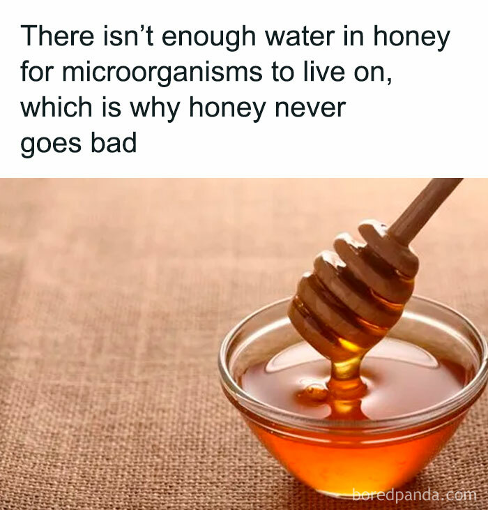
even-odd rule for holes
{"type": "MultiPolygon", "coordinates": [[[[448,315],[454,315],[457,320],[460,320],[468,330],[473,333],[475,338],[480,343],[481,354],[479,357],[480,366],[475,373],[473,379],[466,384],[460,391],[450,396],[448,399],[443,400],[441,403],[427,407],[426,409],[418,410],[408,414],[402,414],[398,417],[390,417],[386,419],[375,419],[368,421],[353,421],[353,420],[331,420],[321,419],[314,417],[305,417],[302,414],[297,414],[287,410],[282,410],[279,407],[266,404],[257,400],[252,395],[244,391],[234,380],[227,367],[227,352],[229,347],[234,340],[236,333],[250,320],[254,319],[257,315],[264,313],[270,308],[280,306],[285,302],[289,302],[292,297],[286,297],[284,299],[278,299],[272,303],[268,303],[266,306],[255,310],[243,320],[238,322],[224,337],[220,345],[218,353],[218,369],[220,373],[220,382],[222,389],[226,393],[231,403],[238,408],[244,408],[251,415],[257,414],[259,417],[264,418],[266,421],[270,421],[271,424],[277,424],[284,427],[292,427],[297,430],[309,431],[313,433],[334,433],[334,434],[376,434],[376,433],[388,433],[397,430],[404,430],[406,428],[413,428],[415,426],[428,426],[434,421],[439,421],[448,415],[456,413],[462,407],[469,407],[475,400],[480,396],[488,380],[488,343],[485,336],[482,335],[480,330],[475,327],[473,322],[469,320],[465,315],[459,313],[454,308],[445,305],[434,299],[422,297],[418,294],[413,294],[411,301],[418,302],[420,304],[426,303],[428,306],[434,306],[434,308],[440,308],[448,315]]],[[[408,304],[407,304],[408,307],[408,304]]],[[[406,309],[408,312],[408,308],[406,309]]],[[[241,409],[240,409],[241,410],[241,409]]],[[[444,422],[443,422],[444,423],[444,422]]]]}

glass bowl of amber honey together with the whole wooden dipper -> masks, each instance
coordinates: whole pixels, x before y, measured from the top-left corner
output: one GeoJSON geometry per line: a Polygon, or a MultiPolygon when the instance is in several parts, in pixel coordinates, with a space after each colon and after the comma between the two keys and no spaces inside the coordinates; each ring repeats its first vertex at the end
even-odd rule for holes
{"type": "Polygon", "coordinates": [[[386,227],[335,238],[292,299],[224,339],[222,387],[262,444],[321,493],[402,486],[455,432],[488,379],[488,345],[454,310],[413,297],[410,242],[462,179],[433,179],[386,227]]]}

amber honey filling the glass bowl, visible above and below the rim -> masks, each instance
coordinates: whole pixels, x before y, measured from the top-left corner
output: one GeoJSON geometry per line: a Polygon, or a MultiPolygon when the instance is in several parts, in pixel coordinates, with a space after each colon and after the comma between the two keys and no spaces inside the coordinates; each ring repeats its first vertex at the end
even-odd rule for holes
{"type": "Polygon", "coordinates": [[[243,373],[241,387],[263,403],[305,417],[358,423],[350,435],[313,433],[249,420],[259,440],[308,485],[333,495],[353,490],[375,493],[409,481],[441,449],[463,415],[425,430],[369,434],[362,424],[392,419],[442,403],[470,380],[462,366],[436,359],[427,350],[385,338],[361,363],[366,389],[361,398],[342,400],[328,389],[330,361],[305,342],[297,343],[243,373]],[[296,433],[295,433],[296,432],[296,433]]]}

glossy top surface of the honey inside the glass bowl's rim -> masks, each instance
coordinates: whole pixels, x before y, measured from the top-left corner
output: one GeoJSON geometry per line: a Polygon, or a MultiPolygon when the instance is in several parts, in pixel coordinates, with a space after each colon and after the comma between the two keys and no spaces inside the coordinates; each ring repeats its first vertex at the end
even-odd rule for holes
{"type": "Polygon", "coordinates": [[[441,403],[470,380],[461,365],[388,337],[365,356],[361,377],[364,396],[339,405],[336,400],[348,400],[335,398],[328,389],[330,362],[302,341],[247,368],[240,385],[265,404],[307,417],[379,420],[441,403]]]}

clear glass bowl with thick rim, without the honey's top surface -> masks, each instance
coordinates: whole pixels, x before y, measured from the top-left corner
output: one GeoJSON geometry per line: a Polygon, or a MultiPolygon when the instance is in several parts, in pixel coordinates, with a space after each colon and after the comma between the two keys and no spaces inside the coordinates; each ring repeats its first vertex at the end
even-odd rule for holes
{"type": "Polygon", "coordinates": [[[455,310],[413,296],[388,336],[462,365],[468,374],[466,385],[447,400],[399,417],[305,417],[257,400],[239,383],[247,368],[302,341],[287,317],[289,299],[257,310],[224,338],[218,366],[225,395],[266,449],[315,490],[353,497],[402,486],[439,453],[485,388],[485,338],[455,310]]]}

